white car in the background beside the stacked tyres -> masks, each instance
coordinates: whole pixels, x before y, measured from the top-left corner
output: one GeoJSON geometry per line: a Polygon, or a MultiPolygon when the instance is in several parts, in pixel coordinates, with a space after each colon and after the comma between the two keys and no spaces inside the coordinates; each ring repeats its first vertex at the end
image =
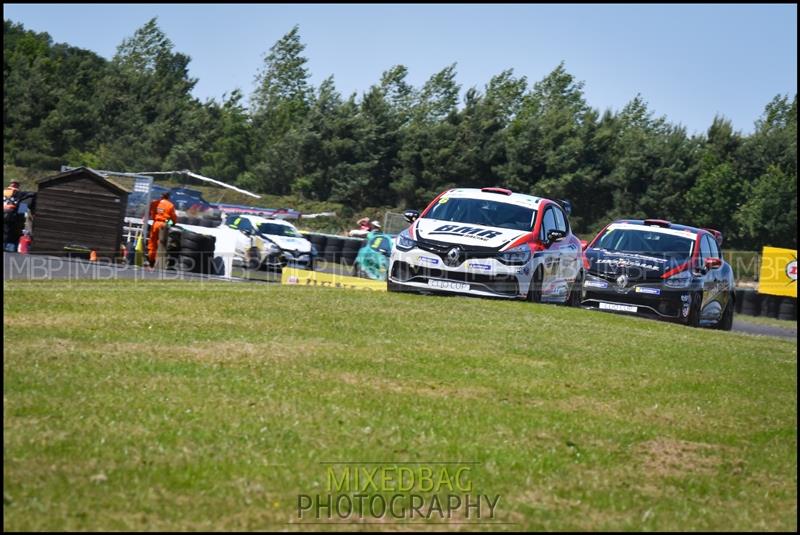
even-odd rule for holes
{"type": "Polygon", "coordinates": [[[287,265],[314,269],[316,249],[288,221],[228,214],[222,226],[240,234],[235,253],[238,260],[250,269],[278,271],[287,265]]]}

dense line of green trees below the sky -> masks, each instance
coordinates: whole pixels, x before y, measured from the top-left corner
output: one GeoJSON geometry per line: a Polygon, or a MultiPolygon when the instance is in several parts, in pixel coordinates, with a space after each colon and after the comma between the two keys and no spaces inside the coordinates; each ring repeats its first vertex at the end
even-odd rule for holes
{"type": "Polygon", "coordinates": [[[797,98],[776,96],[754,132],[717,117],[704,135],[586,102],[564,65],[529,84],[506,70],[459,101],[456,66],[422,87],[391,67],[360,96],[310,83],[299,30],[265,54],[249,98],[191,95],[190,58],[155,19],[109,61],[5,21],[3,157],[19,166],[189,168],[271,194],[356,209],[421,207],[449,186],[570,199],[582,233],[611,218],[722,230],[729,245],[797,246],[797,98]]]}

